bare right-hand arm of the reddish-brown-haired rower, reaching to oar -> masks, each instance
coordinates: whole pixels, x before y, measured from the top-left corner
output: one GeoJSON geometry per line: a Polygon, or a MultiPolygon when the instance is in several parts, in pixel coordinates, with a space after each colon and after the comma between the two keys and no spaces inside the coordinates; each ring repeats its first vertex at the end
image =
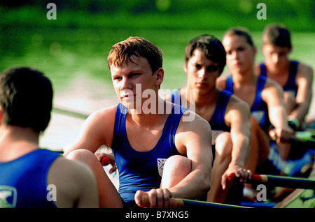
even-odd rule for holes
{"type": "MultiPolygon", "coordinates": [[[[185,114],[189,112],[191,111],[186,111],[185,114]]],[[[181,121],[176,131],[175,145],[181,154],[186,151],[192,168],[190,174],[179,184],[169,188],[169,191],[174,198],[196,199],[210,188],[213,156],[209,123],[197,114],[193,121],[181,121]]]]}

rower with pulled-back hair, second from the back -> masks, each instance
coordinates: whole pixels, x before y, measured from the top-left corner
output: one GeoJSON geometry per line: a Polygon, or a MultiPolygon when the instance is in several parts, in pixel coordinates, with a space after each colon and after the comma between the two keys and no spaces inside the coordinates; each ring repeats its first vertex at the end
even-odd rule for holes
{"type": "MultiPolygon", "coordinates": [[[[222,43],[227,52],[226,61],[232,75],[220,77],[218,87],[232,92],[250,105],[251,113],[265,131],[265,140],[269,143],[268,134],[271,135],[277,143],[279,154],[286,153],[283,143],[290,140],[293,130],[288,126],[280,85],[255,74],[254,60],[257,49],[246,29],[229,29],[223,36],[222,43]],[[270,129],[271,124],[274,129],[270,129]]],[[[286,166],[283,161],[278,165],[282,172],[286,166]]]]}

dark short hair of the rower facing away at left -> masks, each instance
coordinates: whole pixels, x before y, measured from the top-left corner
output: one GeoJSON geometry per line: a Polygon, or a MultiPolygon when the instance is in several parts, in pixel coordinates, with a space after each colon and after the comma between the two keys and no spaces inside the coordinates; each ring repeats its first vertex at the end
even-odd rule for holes
{"type": "Polygon", "coordinates": [[[53,90],[48,77],[34,68],[8,68],[0,73],[1,124],[45,131],[53,90]]]}

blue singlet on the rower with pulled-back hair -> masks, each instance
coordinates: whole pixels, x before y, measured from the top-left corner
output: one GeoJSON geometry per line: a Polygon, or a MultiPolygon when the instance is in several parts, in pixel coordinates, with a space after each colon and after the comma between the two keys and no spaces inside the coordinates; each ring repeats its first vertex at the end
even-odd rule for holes
{"type": "MultiPolygon", "coordinates": [[[[270,127],[269,114],[268,114],[268,106],[267,103],[262,101],[261,91],[264,89],[266,77],[263,75],[259,75],[257,81],[257,89],[255,94],[255,100],[253,105],[251,106],[251,114],[258,121],[258,124],[263,130],[267,130],[270,127]]],[[[233,93],[233,81],[232,75],[229,75],[226,78],[226,90],[233,93]]]]}

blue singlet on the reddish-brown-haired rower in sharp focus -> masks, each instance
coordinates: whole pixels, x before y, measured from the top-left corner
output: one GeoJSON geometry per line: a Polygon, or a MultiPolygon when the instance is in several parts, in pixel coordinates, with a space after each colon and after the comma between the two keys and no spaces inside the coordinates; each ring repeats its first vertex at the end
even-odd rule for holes
{"type": "Polygon", "coordinates": [[[115,117],[112,150],[119,172],[119,193],[123,200],[134,202],[137,190],[150,191],[160,188],[162,170],[170,156],[181,155],[175,147],[175,133],[187,109],[175,105],[167,117],[158,143],[150,151],[136,151],[128,142],[125,121],[127,108],[118,104],[115,117]]]}

